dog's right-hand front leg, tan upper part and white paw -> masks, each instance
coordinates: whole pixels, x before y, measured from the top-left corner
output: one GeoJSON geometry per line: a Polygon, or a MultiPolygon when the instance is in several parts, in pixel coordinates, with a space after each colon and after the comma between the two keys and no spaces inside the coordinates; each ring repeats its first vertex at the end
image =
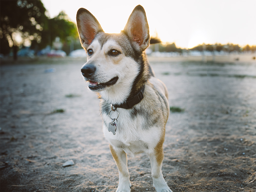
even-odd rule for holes
{"type": "Polygon", "coordinates": [[[164,180],[162,174],[162,162],[164,158],[163,146],[157,145],[155,147],[155,153],[149,154],[150,163],[152,167],[153,186],[157,192],[172,192],[164,180]]]}

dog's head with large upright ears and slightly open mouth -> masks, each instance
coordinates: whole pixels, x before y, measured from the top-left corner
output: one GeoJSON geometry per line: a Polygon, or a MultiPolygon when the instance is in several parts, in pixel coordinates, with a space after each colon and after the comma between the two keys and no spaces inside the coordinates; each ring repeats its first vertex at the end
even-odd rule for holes
{"type": "Polygon", "coordinates": [[[81,45],[87,51],[81,72],[89,88],[99,92],[120,83],[131,87],[140,70],[139,57],[150,41],[143,7],[134,8],[119,34],[104,33],[98,20],[84,8],[77,12],[77,28],[81,45]]]}

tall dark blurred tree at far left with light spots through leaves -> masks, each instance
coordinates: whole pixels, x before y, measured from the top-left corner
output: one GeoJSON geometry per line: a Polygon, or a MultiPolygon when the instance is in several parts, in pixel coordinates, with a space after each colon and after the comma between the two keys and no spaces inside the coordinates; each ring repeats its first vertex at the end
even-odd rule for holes
{"type": "Polygon", "coordinates": [[[18,47],[21,45],[38,45],[43,48],[48,44],[42,41],[43,30],[48,29],[48,18],[41,1],[0,1],[0,38],[1,52],[6,53],[7,45],[13,49],[14,60],[17,59],[18,47]],[[6,39],[6,40],[3,40],[6,39]],[[3,42],[3,46],[2,46],[3,42]],[[5,48],[6,49],[5,49],[5,48]]]}

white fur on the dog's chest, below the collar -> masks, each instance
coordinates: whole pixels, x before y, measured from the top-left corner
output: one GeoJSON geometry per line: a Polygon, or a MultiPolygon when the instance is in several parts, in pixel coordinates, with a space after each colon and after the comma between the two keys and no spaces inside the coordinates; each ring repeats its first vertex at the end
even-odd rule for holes
{"type": "MultiPolygon", "coordinates": [[[[159,141],[158,127],[143,129],[145,120],[140,116],[134,119],[127,118],[129,115],[122,113],[116,123],[115,135],[109,132],[109,127],[103,123],[103,134],[109,143],[117,148],[122,148],[127,154],[151,153],[159,141]]],[[[107,115],[103,115],[104,122],[111,122],[107,115]]]]}

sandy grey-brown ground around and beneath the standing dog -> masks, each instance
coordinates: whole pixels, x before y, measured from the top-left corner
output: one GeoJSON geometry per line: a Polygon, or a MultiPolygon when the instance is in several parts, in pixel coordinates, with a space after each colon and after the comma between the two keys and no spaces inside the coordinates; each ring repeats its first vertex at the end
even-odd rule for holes
{"type": "MultiPolygon", "coordinates": [[[[255,60],[150,60],[170,106],[184,109],[166,124],[162,172],[169,187],[255,191],[255,60]]],[[[80,74],[85,59],[35,62],[1,63],[1,192],[115,191],[118,170],[99,100],[80,74]],[[68,160],[74,165],[62,167],[68,160]]],[[[147,155],[128,156],[128,168],[132,192],[155,191],[147,155]]]]}

